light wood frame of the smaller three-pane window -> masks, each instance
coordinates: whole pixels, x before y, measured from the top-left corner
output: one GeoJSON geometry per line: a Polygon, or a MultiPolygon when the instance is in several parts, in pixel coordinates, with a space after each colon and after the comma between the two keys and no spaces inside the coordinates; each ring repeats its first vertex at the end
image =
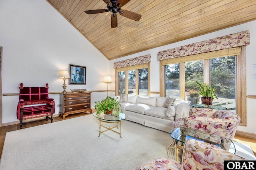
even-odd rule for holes
{"type": "MultiPolygon", "coordinates": [[[[138,84],[138,70],[139,69],[142,69],[142,68],[148,68],[148,96],[150,96],[150,63],[145,63],[145,64],[138,64],[138,65],[135,65],[135,66],[127,66],[127,67],[122,67],[122,68],[116,68],[116,80],[118,80],[118,72],[120,71],[125,71],[125,94],[128,94],[128,71],[129,70],[135,70],[136,71],[136,87],[135,87],[135,94],[138,94],[139,92],[139,84],[138,84]]],[[[118,84],[118,81],[116,81],[116,87],[118,87],[119,84],[118,84]]],[[[116,91],[115,91],[115,95],[118,96],[118,90],[116,88],[116,91]]]]}

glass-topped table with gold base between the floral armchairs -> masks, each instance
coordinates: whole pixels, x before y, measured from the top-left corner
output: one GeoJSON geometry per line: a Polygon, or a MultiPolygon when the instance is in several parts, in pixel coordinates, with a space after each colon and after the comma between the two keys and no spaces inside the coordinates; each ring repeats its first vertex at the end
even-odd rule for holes
{"type": "Polygon", "coordinates": [[[174,141],[166,149],[167,155],[168,158],[171,158],[171,156],[174,158],[173,155],[175,155],[175,160],[178,162],[181,162],[182,160],[184,144],[188,139],[196,139],[202,142],[210,143],[220,147],[221,149],[228,150],[231,153],[236,153],[235,145],[230,139],[219,135],[210,134],[205,131],[178,127],[172,131],[171,137],[174,139],[174,141]]]}

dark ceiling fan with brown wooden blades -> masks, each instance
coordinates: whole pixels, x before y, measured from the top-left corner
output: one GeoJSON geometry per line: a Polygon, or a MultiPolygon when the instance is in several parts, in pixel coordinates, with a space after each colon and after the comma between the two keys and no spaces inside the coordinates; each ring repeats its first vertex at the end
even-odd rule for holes
{"type": "Polygon", "coordinates": [[[117,27],[117,14],[119,13],[121,16],[124,16],[126,18],[129,18],[134,21],[139,21],[141,18],[140,14],[137,14],[135,12],[127,11],[127,10],[121,10],[121,7],[127,4],[130,0],[103,0],[107,4],[108,9],[103,10],[88,10],[84,11],[86,14],[98,14],[103,12],[112,12],[111,16],[111,27],[115,28],[117,27]]]}

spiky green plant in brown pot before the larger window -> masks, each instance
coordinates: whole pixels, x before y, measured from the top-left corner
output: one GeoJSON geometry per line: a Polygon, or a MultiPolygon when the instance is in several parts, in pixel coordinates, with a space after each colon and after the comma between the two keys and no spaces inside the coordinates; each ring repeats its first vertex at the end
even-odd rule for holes
{"type": "Polygon", "coordinates": [[[196,81],[196,84],[200,87],[200,90],[198,91],[198,94],[200,94],[202,104],[212,104],[212,100],[218,99],[217,94],[215,94],[216,89],[214,86],[210,87],[209,84],[203,83],[200,84],[196,81]]]}

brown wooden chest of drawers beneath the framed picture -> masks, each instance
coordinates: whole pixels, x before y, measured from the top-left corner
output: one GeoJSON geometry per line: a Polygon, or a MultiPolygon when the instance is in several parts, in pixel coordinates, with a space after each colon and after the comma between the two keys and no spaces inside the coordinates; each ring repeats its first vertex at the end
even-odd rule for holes
{"type": "Polygon", "coordinates": [[[91,109],[91,92],[60,94],[59,116],[65,119],[67,115],[81,113],[91,109]]]}

